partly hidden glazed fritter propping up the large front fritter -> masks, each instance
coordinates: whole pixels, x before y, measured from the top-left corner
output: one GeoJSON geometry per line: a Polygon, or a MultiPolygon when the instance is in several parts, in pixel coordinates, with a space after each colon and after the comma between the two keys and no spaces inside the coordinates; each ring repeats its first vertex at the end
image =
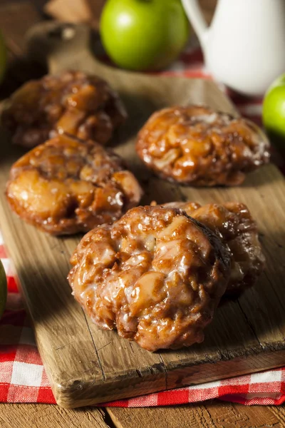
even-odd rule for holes
{"type": "Polygon", "coordinates": [[[259,243],[257,224],[243,203],[199,205],[191,202],[163,204],[185,210],[221,238],[231,253],[231,275],[227,295],[238,295],[257,282],[264,269],[265,257],[259,243]]]}

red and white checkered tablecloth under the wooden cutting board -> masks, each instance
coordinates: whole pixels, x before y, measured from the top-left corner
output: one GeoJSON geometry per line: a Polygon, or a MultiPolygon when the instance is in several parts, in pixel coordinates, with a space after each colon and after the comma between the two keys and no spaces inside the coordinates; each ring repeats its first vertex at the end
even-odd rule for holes
{"type": "MultiPolygon", "coordinates": [[[[211,78],[204,70],[197,48],[185,51],[165,74],[211,78]]],[[[221,86],[223,88],[223,86],[221,86]]],[[[223,88],[226,91],[225,88],[223,88]]],[[[243,116],[261,124],[261,99],[249,99],[228,91],[243,116]]],[[[280,164],[283,168],[284,165],[280,164]]],[[[285,170],[284,170],[285,171],[285,170]]],[[[22,307],[11,260],[6,255],[0,233],[0,258],[8,277],[8,304],[0,322],[0,402],[55,403],[46,371],[38,354],[33,332],[22,307]]],[[[284,362],[285,364],[285,362],[284,362]]],[[[192,387],[147,394],[108,403],[114,407],[147,407],[202,402],[219,398],[242,404],[282,404],[285,402],[285,367],[248,374],[192,387]]]]}

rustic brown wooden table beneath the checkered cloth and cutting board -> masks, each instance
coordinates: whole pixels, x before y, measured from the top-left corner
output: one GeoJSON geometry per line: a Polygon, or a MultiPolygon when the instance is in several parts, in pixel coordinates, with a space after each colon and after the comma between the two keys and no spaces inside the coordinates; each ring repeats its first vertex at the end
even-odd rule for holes
{"type": "MultiPolygon", "coordinates": [[[[0,88],[0,98],[14,91],[28,78],[44,70],[24,58],[24,34],[41,18],[43,0],[0,0],[0,29],[9,48],[9,71],[0,88]],[[37,6],[37,7],[36,7],[37,6]]],[[[202,0],[209,19],[215,0],[202,0]]],[[[67,410],[49,404],[0,404],[1,428],[261,428],[285,427],[285,407],[246,407],[212,400],[203,404],[142,409],[95,408],[67,410]]]]}

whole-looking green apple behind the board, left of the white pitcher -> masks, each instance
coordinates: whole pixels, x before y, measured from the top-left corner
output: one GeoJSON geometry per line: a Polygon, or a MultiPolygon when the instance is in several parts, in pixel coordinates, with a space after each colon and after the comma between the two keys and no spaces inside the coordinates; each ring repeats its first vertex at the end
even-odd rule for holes
{"type": "Polygon", "coordinates": [[[190,26],[180,0],[108,0],[100,36],[112,60],[131,70],[157,70],[180,54],[190,26]]]}

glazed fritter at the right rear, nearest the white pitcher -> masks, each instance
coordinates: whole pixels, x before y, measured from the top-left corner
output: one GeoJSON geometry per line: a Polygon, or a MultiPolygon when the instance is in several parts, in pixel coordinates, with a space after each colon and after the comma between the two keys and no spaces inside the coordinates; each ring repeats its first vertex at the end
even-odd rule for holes
{"type": "Polygon", "coordinates": [[[202,106],[152,114],[136,149],[157,175],[185,185],[239,185],[270,158],[269,142],[254,123],[202,106]]]}

